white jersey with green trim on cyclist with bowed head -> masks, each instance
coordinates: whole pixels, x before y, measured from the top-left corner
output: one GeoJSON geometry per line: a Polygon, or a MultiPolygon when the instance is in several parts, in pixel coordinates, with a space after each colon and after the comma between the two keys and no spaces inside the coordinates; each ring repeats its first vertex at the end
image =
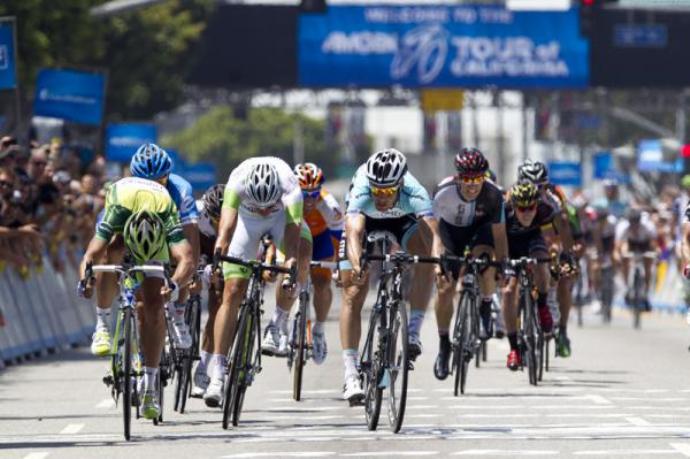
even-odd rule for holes
{"type": "Polygon", "coordinates": [[[287,223],[300,225],[302,222],[302,190],[297,178],[288,164],[280,158],[273,156],[260,156],[242,161],[230,174],[228,184],[223,195],[223,207],[239,209],[242,215],[260,217],[258,209],[247,203],[247,192],[244,182],[247,175],[256,164],[270,164],[278,173],[278,181],[281,188],[281,198],[269,210],[270,215],[285,212],[287,223]]]}

